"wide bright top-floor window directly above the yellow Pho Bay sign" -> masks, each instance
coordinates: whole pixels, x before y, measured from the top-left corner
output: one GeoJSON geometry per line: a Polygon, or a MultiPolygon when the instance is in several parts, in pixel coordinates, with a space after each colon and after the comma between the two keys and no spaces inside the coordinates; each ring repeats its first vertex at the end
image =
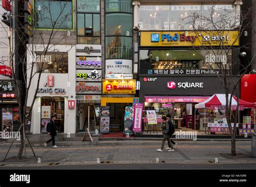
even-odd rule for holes
{"type": "Polygon", "coordinates": [[[233,5],[140,5],[140,30],[233,29],[233,5]],[[213,10],[211,14],[211,10],[213,10]],[[194,23],[193,23],[194,21],[194,23]]]}

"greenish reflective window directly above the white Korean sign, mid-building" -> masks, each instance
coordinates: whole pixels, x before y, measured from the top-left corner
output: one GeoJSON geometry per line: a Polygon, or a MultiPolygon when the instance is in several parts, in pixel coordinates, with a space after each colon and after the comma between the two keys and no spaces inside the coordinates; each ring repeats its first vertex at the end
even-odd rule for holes
{"type": "Polygon", "coordinates": [[[132,59],[131,37],[106,37],[106,59],[132,59]]]}

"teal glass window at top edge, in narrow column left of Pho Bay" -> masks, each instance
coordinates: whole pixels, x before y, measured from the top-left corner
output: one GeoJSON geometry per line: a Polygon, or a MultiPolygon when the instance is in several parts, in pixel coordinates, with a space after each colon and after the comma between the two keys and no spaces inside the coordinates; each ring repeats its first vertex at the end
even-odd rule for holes
{"type": "Polygon", "coordinates": [[[107,12],[127,12],[132,13],[131,0],[106,0],[106,13],[107,12]]]}

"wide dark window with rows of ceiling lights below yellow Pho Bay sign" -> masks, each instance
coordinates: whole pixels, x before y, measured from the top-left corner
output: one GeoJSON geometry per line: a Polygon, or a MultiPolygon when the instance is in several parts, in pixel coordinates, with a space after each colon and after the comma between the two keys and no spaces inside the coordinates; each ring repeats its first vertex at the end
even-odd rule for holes
{"type": "MultiPolygon", "coordinates": [[[[232,51],[228,56],[218,49],[196,50],[140,50],[140,70],[148,69],[219,69],[217,63],[231,62],[232,51]],[[227,59],[228,58],[228,59],[227,59]]],[[[146,71],[145,71],[146,70],[146,71]]]]}

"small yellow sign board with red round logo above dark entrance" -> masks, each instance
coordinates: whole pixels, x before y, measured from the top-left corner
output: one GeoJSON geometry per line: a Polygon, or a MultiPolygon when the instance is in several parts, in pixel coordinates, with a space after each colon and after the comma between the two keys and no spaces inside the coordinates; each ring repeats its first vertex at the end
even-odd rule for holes
{"type": "Polygon", "coordinates": [[[136,80],[103,80],[103,94],[135,94],[136,80]]]}

